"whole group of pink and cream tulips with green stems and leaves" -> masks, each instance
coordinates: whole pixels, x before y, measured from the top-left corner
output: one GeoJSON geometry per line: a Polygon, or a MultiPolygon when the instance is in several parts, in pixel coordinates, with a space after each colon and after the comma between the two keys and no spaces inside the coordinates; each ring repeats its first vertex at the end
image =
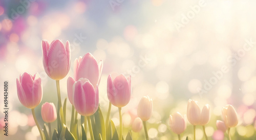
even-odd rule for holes
{"type": "MultiPolygon", "coordinates": [[[[47,75],[56,81],[57,98],[56,103],[44,103],[41,106],[41,118],[46,124],[41,129],[35,115],[35,108],[40,104],[43,97],[42,81],[39,74],[30,75],[24,73],[17,78],[17,95],[20,103],[32,110],[33,118],[39,130],[41,139],[119,139],[122,140],[122,107],[129,104],[131,99],[131,76],[120,74],[118,76],[109,75],[107,79],[106,92],[109,99],[109,109],[104,120],[99,106],[99,84],[101,80],[103,62],[97,61],[90,53],[79,57],[74,61],[74,76],[67,80],[67,97],[72,106],[70,126],[67,125],[66,107],[67,98],[64,103],[61,102],[59,80],[65,78],[70,70],[71,51],[69,41],[64,45],[60,40],[54,40],[50,44],[47,40],[42,40],[43,65],[47,75]],[[57,108],[55,107],[57,105],[57,108]],[[114,122],[110,119],[112,105],[119,111],[119,131],[114,122]],[[81,115],[81,124],[78,124],[78,115],[81,115]],[[51,123],[57,120],[57,126],[52,131],[51,123]],[[90,135],[87,133],[87,123],[90,135]]],[[[142,127],[145,131],[145,139],[149,139],[146,127],[146,121],[153,113],[153,100],[144,96],[137,106],[138,117],[132,124],[134,133],[140,132],[142,127]]],[[[188,101],[187,119],[194,126],[194,139],[196,138],[196,126],[203,127],[205,138],[205,125],[210,120],[210,107],[206,104],[200,110],[194,100],[188,101]]],[[[231,105],[223,107],[223,120],[217,121],[217,128],[225,132],[228,130],[230,138],[230,128],[238,124],[236,110],[231,105]]],[[[180,134],[186,129],[185,116],[179,112],[169,115],[170,129],[180,134]]],[[[132,131],[127,133],[125,139],[132,139],[132,131]]],[[[231,139],[231,138],[230,138],[231,139]]]]}

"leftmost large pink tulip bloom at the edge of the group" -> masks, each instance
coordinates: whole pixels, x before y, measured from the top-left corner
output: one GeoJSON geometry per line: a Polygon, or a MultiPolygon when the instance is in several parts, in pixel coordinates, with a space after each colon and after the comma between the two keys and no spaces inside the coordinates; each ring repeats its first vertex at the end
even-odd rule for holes
{"type": "Polygon", "coordinates": [[[42,83],[38,73],[34,76],[24,73],[16,79],[17,93],[20,103],[25,107],[33,109],[42,100],[42,83]]]}

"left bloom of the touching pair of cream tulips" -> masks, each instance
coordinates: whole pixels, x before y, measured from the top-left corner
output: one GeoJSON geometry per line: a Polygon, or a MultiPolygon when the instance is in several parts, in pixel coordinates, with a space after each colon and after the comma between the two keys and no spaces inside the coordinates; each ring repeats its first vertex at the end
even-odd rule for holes
{"type": "Polygon", "coordinates": [[[192,125],[199,125],[201,122],[201,110],[195,100],[188,100],[187,120],[192,125]]]}

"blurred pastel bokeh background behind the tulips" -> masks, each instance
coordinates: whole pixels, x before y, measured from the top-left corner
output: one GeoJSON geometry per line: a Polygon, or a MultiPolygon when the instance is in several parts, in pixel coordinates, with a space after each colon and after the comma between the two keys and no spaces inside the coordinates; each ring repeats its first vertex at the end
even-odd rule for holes
{"type": "MultiPolygon", "coordinates": [[[[45,102],[57,104],[55,81],[42,65],[41,40],[60,39],[71,44],[71,68],[60,80],[62,103],[67,98],[67,78],[74,75],[75,58],[90,52],[103,60],[99,86],[100,107],[108,111],[106,79],[109,74],[132,76],[132,97],[123,107],[126,135],[137,116],[141,97],[153,99],[148,121],[151,139],[178,139],[170,131],[169,114],[186,114],[188,99],[200,108],[209,104],[209,139],[227,139],[216,131],[223,120],[222,107],[232,104],[239,124],[231,129],[233,139],[256,139],[256,12],[255,1],[0,1],[0,79],[9,82],[9,136],[0,139],[39,139],[30,109],[17,98],[16,78],[24,72],[39,73],[44,96],[35,108],[39,124],[45,102]]],[[[3,128],[4,96],[1,92],[0,129],[3,128]]],[[[67,112],[71,111],[68,101],[67,112]]],[[[67,118],[71,118],[67,114],[67,118]]],[[[80,116],[78,117],[80,118],[80,116]]],[[[119,126],[117,107],[111,118],[119,126]]],[[[56,122],[55,122],[56,123],[56,122]]],[[[68,122],[69,124],[69,122],[68,122]]],[[[56,124],[55,124],[56,125],[56,124]]],[[[52,125],[54,126],[54,125],[52,125]]],[[[139,134],[144,138],[144,130],[139,134]]],[[[193,138],[187,121],[182,139],[193,138]]],[[[197,126],[197,139],[204,139],[197,126]]]]}

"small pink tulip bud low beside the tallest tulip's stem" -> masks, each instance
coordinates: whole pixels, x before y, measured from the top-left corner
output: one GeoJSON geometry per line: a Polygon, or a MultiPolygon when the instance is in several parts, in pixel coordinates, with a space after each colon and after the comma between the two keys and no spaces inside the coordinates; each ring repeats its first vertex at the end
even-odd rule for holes
{"type": "Polygon", "coordinates": [[[53,103],[44,103],[41,107],[42,120],[46,123],[52,123],[57,119],[56,108],[53,103]]]}

